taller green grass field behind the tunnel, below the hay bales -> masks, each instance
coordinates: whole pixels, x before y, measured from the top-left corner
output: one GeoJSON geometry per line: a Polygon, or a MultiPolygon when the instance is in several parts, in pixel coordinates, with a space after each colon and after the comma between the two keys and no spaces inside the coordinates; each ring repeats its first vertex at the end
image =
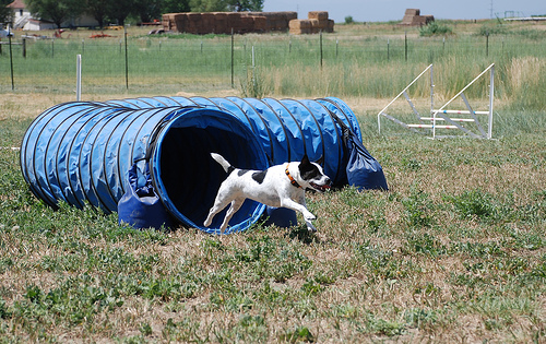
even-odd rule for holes
{"type": "MultiPolygon", "coordinates": [[[[87,98],[225,90],[232,87],[232,76],[234,88],[248,96],[381,98],[397,94],[429,63],[435,64],[438,83],[446,85],[437,92],[450,97],[495,62],[499,98],[546,108],[541,92],[546,78],[539,78],[546,74],[544,24],[443,25],[452,26],[453,34],[424,37],[418,28],[383,23],[339,25],[334,34],[322,35],[322,44],[319,35],[236,35],[233,50],[232,37],[226,35],[150,36],[146,28],[134,27],[127,36],[127,80],[123,32],[106,32],[112,37],[93,39],[90,36],[96,32],[79,29],[64,33],[62,39],[27,38],[26,58],[22,46],[14,46],[12,62],[3,45],[0,92],[11,92],[11,64],[17,92],[74,92],[76,55],[82,55],[87,98]],[[484,32],[490,32],[488,38],[484,32]]],[[[14,40],[20,43],[21,35],[17,32],[14,40]]],[[[428,92],[425,87],[418,94],[428,92]]],[[[483,97],[483,93],[475,88],[467,96],[483,97]]]]}

